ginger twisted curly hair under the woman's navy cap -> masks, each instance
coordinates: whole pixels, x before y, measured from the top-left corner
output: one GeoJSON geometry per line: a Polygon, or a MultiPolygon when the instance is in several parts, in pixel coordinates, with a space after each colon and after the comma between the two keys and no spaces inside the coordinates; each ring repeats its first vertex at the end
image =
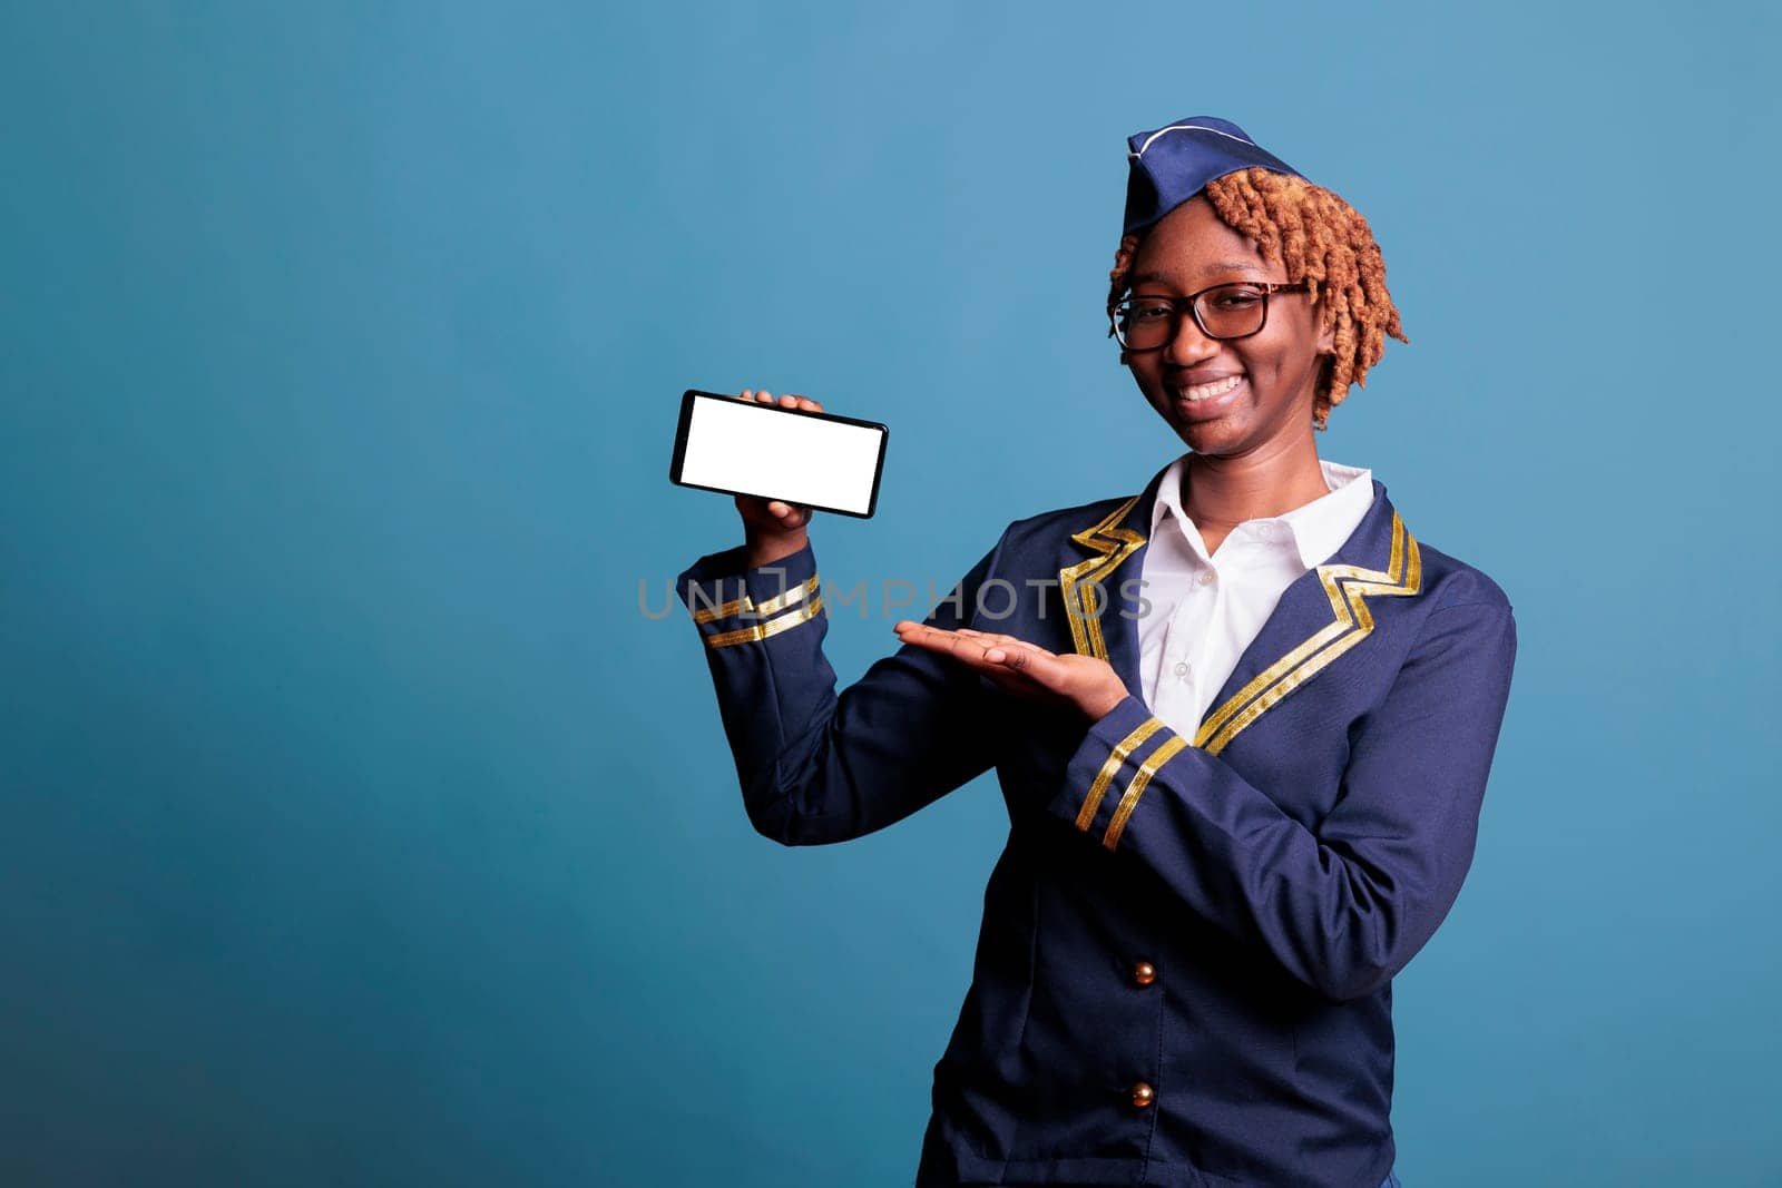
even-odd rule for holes
{"type": "MultiPolygon", "coordinates": [[[[1308,283],[1320,312],[1319,333],[1335,331],[1335,354],[1324,360],[1312,403],[1312,427],[1322,429],[1351,383],[1367,387],[1367,369],[1385,353],[1386,335],[1410,344],[1386,292],[1386,262],[1374,232],[1335,192],[1290,173],[1238,169],[1214,178],[1203,192],[1221,223],[1287,267],[1288,281],[1308,283]]],[[[1139,240],[1126,235],[1114,253],[1108,312],[1126,296],[1139,240]]]]}

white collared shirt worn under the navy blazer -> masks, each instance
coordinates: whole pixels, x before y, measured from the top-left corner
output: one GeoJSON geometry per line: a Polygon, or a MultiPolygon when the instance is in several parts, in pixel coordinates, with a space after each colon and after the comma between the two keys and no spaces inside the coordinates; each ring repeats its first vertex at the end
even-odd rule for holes
{"type": "Polygon", "coordinates": [[[1342,549],[1374,504],[1374,472],[1319,460],[1329,495],[1262,520],[1244,520],[1206,556],[1181,509],[1189,454],[1164,470],[1151,508],[1139,618],[1139,679],[1151,712],[1194,737],[1244,650],[1281,595],[1342,549]]]}

